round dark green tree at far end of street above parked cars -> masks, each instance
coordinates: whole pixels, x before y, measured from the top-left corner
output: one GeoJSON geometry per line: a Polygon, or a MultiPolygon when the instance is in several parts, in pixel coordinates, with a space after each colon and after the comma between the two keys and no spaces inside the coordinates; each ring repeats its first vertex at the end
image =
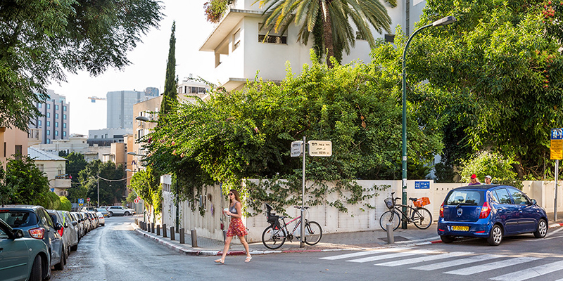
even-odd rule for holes
{"type": "Polygon", "coordinates": [[[125,168],[122,165],[115,167],[113,162],[94,160],[79,175],[80,182],[87,189],[87,197],[91,198],[91,204],[97,204],[98,177],[100,205],[121,202],[125,195],[125,168]]]}

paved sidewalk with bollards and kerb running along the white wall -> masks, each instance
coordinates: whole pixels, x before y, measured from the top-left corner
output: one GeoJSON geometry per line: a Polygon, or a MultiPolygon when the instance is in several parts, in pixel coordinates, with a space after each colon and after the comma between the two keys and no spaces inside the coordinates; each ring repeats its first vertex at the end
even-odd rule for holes
{"type": "MultiPolygon", "coordinates": [[[[553,213],[548,213],[550,228],[558,228],[563,226],[563,211],[557,212],[557,221],[553,220],[553,213]]],[[[176,233],[175,240],[168,237],[157,236],[156,233],[149,233],[142,230],[135,223],[131,224],[136,233],[143,235],[149,239],[179,251],[182,254],[192,256],[217,256],[222,254],[224,246],[223,241],[213,240],[205,237],[197,237],[198,247],[191,247],[191,235],[186,233],[186,244],[179,244],[179,233],[176,233]]],[[[282,247],[276,250],[267,249],[262,242],[248,243],[251,254],[274,254],[274,253],[295,253],[308,251],[344,251],[344,250],[360,250],[381,247],[401,247],[401,246],[417,246],[423,244],[441,243],[440,237],[436,234],[436,223],[425,229],[420,230],[415,226],[409,225],[407,229],[398,228],[393,232],[395,243],[387,243],[387,233],[384,230],[369,230],[353,233],[323,233],[321,242],[315,246],[300,247],[300,242],[286,241],[282,247]]],[[[235,238],[231,243],[228,255],[246,255],[242,244],[235,238]],[[236,240],[236,241],[235,241],[236,240]]]]}

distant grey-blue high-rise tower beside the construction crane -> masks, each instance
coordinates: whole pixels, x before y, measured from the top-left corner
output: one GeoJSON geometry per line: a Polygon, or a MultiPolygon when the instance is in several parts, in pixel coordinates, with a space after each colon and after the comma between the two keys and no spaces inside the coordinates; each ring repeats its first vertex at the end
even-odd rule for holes
{"type": "Polygon", "coordinates": [[[147,98],[158,96],[158,89],[146,88],[145,91],[111,91],[108,99],[108,129],[133,130],[133,105],[147,98]]]}

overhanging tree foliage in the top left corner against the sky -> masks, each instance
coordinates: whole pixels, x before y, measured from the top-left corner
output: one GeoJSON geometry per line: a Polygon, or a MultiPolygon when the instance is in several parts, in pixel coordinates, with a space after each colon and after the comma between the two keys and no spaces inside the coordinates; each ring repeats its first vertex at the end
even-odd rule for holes
{"type": "Polygon", "coordinates": [[[162,18],[156,0],[0,2],[0,127],[27,125],[35,103],[65,72],[98,75],[129,65],[126,53],[162,18]]]}

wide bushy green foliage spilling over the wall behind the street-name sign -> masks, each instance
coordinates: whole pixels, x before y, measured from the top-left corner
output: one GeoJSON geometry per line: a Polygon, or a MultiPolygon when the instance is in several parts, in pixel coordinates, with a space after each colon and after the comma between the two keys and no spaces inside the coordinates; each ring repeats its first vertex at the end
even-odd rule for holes
{"type": "MultiPolygon", "coordinates": [[[[400,178],[397,55],[396,48],[384,44],[374,53],[378,64],[329,68],[313,63],[298,77],[288,67],[280,85],[251,81],[241,91],[215,91],[205,103],[176,105],[159,116],[159,126],[145,137],[151,151],[148,165],[182,169],[176,171],[178,178],[193,180],[179,184],[188,196],[198,194],[196,188],[209,180],[228,190],[241,188],[243,178],[288,178],[296,183],[289,189],[246,190],[253,198],[286,200],[301,194],[301,159],[290,157],[289,148],[306,136],[333,144],[332,157],[306,159],[308,179],[336,181],[336,190],[353,190],[350,202],[357,202],[362,189],[350,181],[400,178]],[[175,159],[183,166],[175,166],[175,159]]],[[[409,159],[427,163],[441,151],[441,134],[419,126],[412,115],[408,119],[409,159]]],[[[308,192],[319,203],[327,187],[321,184],[308,192]]]]}

